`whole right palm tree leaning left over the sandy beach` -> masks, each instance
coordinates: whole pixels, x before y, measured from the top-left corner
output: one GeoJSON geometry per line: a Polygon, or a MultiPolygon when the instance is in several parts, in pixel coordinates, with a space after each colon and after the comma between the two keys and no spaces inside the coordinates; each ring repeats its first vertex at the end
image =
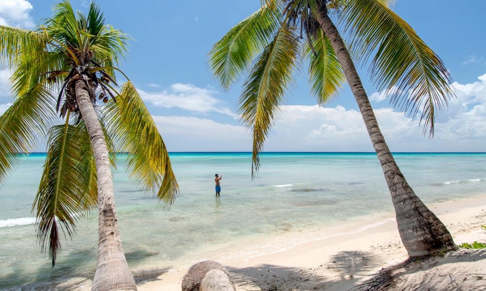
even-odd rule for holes
{"type": "Polygon", "coordinates": [[[440,58],[389,8],[391,2],[262,1],[257,12],[213,46],[209,64],[224,89],[249,71],[239,104],[242,120],[253,133],[252,176],[258,171],[259,152],[299,61],[309,62],[309,83],[318,104],[333,97],[346,80],[382,165],[401,240],[413,258],[451,250],[455,245],[447,228],[400,172],[348,48],[362,64],[369,61],[372,79],[389,95],[391,103],[412,117],[420,115],[424,133],[430,136],[434,134],[436,108],[447,106],[453,92],[440,58]],[[347,41],[331,17],[337,20],[347,41]]]}

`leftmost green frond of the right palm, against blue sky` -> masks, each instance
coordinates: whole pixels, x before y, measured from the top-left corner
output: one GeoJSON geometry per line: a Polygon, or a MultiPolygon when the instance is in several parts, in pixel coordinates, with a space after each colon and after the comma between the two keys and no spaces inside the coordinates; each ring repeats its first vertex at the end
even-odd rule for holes
{"type": "Polygon", "coordinates": [[[280,25],[278,1],[269,1],[212,47],[209,66],[226,90],[248,69],[254,56],[272,40],[280,25]]]}

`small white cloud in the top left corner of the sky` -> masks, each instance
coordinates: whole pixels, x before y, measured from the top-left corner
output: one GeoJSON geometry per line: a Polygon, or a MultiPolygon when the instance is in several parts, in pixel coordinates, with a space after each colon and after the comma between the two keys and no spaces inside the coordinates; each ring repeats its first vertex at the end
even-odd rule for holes
{"type": "Polygon", "coordinates": [[[0,24],[30,28],[34,26],[30,11],[32,4],[27,0],[1,0],[0,24]]]}

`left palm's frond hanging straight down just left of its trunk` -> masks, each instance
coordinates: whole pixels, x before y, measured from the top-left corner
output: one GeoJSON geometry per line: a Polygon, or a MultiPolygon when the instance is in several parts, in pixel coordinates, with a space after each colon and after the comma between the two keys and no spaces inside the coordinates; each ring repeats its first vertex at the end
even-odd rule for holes
{"type": "Polygon", "coordinates": [[[37,217],[37,237],[49,253],[52,267],[61,251],[64,234],[71,237],[79,215],[97,205],[96,166],[84,126],[53,126],[44,171],[32,210],[37,217]]]}

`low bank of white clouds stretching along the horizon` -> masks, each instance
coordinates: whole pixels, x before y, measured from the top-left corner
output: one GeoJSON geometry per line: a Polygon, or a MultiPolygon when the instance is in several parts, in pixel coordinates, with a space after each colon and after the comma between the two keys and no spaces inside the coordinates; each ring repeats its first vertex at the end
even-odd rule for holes
{"type": "MultiPolygon", "coordinates": [[[[438,113],[435,138],[422,135],[418,121],[392,108],[377,116],[392,151],[484,151],[486,145],[486,75],[454,83],[457,99],[438,113]]],[[[250,151],[251,136],[242,126],[195,117],[155,117],[171,150],[250,151]]],[[[373,151],[361,113],[342,106],[282,106],[265,143],[266,151],[373,151]]]]}

